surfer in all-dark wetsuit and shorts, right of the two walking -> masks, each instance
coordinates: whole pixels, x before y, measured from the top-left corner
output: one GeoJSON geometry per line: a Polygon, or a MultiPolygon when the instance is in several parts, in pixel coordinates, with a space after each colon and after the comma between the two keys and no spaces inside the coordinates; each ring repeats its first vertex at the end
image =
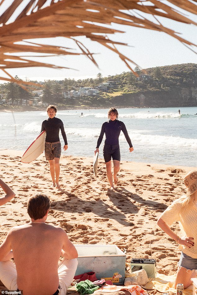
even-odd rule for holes
{"type": "Polygon", "coordinates": [[[110,188],[113,189],[114,184],[117,184],[118,182],[117,173],[120,170],[120,147],[119,147],[118,139],[119,139],[121,130],[124,133],[126,141],[129,144],[130,152],[133,151],[133,145],[131,143],[131,139],[126,130],[125,124],[118,120],[118,111],[115,108],[111,108],[108,111],[108,119],[109,121],[103,123],[102,125],[94,154],[96,154],[96,152],[99,153],[99,146],[103,140],[103,135],[105,133],[106,138],[105,138],[105,142],[103,146],[103,157],[106,164],[107,177],[110,184],[110,188]],[[113,167],[114,167],[113,176],[112,176],[111,159],[113,160],[113,167]]]}

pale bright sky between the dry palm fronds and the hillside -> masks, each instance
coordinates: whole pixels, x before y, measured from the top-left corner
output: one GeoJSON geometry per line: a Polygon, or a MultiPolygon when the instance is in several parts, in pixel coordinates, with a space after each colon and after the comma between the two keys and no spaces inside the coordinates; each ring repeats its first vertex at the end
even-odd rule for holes
{"type": "MultiPolygon", "coordinates": [[[[197,22],[197,17],[187,13],[191,19],[197,22]]],[[[186,25],[172,20],[160,18],[162,24],[174,29],[177,33],[181,34],[181,37],[187,40],[197,43],[197,27],[195,25],[186,25]]],[[[127,43],[129,46],[117,46],[119,51],[128,56],[131,60],[135,61],[141,68],[149,68],[163,65],[173,65],[182,63],[197,63],[197,54],[192,52],[181,42],[175,38],[168,36],[162,32],[154,32],[151,30],[140,29],[130,26],[113,25],[113,28],[123,30],[126,33],[116,33],[114,36],[110,36],[113,40],[127,43]]],[[[60,57],[48,57],[39,58],[38,60],[55,63],[56,65],[63,65],[65,67],[73,69],[50,69],[50,68],[23,68],[23,69],[9,69],[8,72],[15,76],[18,75],[22,79],[31,79],[37,81],[44,81],[48,79],[62,80],[64,78],[96,78],[96,75],[100,72],[103,76],[121,74],[127,72],[129,69],[124,62],[113,53],[112,51],[105,49],[102,45],[96,42],[92,42],[85,37],[80,37],[78,40],[85,43],[91,52],[96,53],[94,55],[99,68],[97,68],[87,57],[85,56],[60,56],[60,57]]],[[[38,41],[38,39],[36,40],[38,41]]],[[[53,38],[48,39],[52,45],[62,45],[75,47],[74,42],[66,38],[53,38]]],[[[197,51],[197,47],[193,47],[197,51]]],[[[131,66],[134,68],[135,65],[131,66]]]]}

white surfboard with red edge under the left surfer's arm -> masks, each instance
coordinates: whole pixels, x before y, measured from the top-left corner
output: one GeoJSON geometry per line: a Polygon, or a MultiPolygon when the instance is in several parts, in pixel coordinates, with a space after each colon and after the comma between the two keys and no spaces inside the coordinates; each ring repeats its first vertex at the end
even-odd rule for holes
{"type": "Polygon", "coordinates": [[[45,146],[46,131],[44,130],[38,137],[30,144],[21,158],[21,162],[30,163],[37,159],[43,152],[45,146]]]}

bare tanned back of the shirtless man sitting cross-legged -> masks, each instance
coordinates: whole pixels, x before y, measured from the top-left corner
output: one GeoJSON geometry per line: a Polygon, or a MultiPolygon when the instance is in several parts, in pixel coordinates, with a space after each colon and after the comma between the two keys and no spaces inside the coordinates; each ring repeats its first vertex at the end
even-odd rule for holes
{"type": "Polygon", "coordinates": [[[30,222],[11,231],[19,290],[39,294],[42,286],[45,294],[55,293],[59,286],[58,260],[65,239],[64,230],[46,223],[30,222]]]}

